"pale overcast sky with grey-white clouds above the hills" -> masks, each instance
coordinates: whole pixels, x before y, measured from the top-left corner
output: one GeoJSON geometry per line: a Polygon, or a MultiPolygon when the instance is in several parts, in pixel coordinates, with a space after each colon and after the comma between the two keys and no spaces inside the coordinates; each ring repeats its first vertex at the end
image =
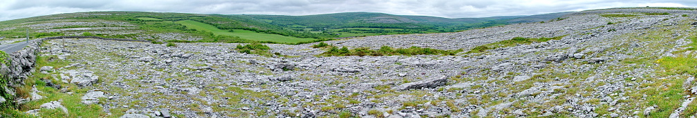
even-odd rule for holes
{"type": "Polygon", "coordinates": [[[383,12],[493,17],[618,7],[696,7],[695,0],[0,0],[0,21],[89,11],[307,15],[383,12]]]}

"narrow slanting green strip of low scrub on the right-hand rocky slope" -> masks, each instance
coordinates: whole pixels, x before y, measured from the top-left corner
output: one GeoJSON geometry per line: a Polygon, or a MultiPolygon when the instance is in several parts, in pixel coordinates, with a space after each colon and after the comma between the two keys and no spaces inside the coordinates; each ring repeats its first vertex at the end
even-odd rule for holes
{"type": "Polygon", "coordinates": [[[484,44],[482,46],[477,46],[475,48],[472,48],[470,51],[468,51],[466,53],[470,54],[470,53],[486,52],[487,50],[496,49],[496,48],[512,47],[512,46],[516,46],[518,44],[529,44],[529,43],[533,43],[533,42],[559,40],[559,39],[562,39],[563,37],[566,37],[566,36],[567,35],[563,35],[563,36],[559,36],[559,37],[551,37],[551,38],[547,38],[547,37],[540,37],[540,38],[514,37],[513,39],[510,39],[510,40],[498,41],[495,43],[488,43],[488,44],[484,44]]]}

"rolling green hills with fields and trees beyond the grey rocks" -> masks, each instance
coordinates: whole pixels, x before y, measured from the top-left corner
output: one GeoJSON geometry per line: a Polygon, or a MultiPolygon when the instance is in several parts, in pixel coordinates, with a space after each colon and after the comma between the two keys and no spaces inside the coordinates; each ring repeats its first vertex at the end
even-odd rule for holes
{"type": "Polygon", "coordinates": [[[177,42],[311,43],[336,37],[457,32],[510,23],[547,21],[540,16],[459,18],[344,12],[307,16],[188,14],[174,12],[75,12],[0,21],[0,40],[59,35],[177,42]],[[173,35],[174,34],[174,35],[173,35]],[[173,35],[173,36],[169,36],[173,35]]]}

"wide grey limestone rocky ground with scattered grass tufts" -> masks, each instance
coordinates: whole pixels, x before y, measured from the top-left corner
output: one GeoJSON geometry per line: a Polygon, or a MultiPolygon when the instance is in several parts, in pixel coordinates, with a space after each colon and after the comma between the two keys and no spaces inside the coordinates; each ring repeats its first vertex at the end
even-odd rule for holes
{"type": "Polygon", "coordinates": [[[326,41],[469,50],[566,35],[456,56],[315,57],[324,50],[312,44],[267,44],[289,56],[263,57],[237,52],[236,43],[98,39],[47,41],[41,55],[73,63],[49,73],[89,89],[83,103],[130,117],[652,117],[666,110],[696,117],[685,110],[695,106],[693,75],[661,74],[655,62],[694,57],[674,51],[697,35],[695,17],[690,10],[593,10],[544,23],[326,41]],[[616,12],[670,14],[599,15],[616,12]],[[661,96],[671,86],[684,90],[680,107],[654,102],[675,100],[661,96]]]}

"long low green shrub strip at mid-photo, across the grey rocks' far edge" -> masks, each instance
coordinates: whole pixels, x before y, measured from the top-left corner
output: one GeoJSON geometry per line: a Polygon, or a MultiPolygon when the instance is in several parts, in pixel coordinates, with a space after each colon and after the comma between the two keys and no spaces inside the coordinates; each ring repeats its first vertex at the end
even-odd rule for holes
{"type": "Polygon", "coordinates": [[[432,48],[420,48],[412,46],[411,48],[392,48],[390,46],[382,46],[379,50],[371,50],[370,48],[355,48],[348,50],[346,47],[337,48],[331,47],[327,52],[320,54],[321,56],[389,56],[389,55],[455,55],[462,50],[438,50],[432,48]]]}

